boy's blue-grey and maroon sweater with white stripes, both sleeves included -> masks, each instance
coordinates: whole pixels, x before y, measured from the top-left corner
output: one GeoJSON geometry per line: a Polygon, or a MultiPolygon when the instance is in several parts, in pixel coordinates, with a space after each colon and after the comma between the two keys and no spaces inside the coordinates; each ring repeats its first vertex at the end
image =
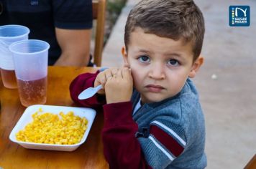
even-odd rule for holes
{"type": "MultiPolygon", "coordinates": [[[[97,73],[96,73],[97,74],[97,73]]],[[[78,100],[96,74],[81,74],[70,84],[72,99],[86,107],[106,102],[97,96],[78,100]]],[[[144,104],[132,113],[140,94],[130,102],[104,105],[102,140],[110,168],[205,168],[204,115],[190,79],[175,97],[144,104]]]]}

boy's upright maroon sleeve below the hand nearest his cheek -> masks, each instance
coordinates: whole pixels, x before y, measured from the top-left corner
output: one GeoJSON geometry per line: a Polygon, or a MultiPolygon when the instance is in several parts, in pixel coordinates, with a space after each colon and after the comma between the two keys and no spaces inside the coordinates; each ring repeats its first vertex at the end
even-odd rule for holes
{"type": "Polygon", "coordinates": [[[151,168],[135,137],[137,123],[132,120],[132,102],[104,105],[102,139],[110,168],[151,168]]]}

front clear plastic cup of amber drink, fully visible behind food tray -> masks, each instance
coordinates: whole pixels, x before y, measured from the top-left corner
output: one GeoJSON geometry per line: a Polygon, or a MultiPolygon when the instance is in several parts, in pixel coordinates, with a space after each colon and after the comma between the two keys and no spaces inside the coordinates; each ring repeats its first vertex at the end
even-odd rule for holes
{"type": "Polygon", "coordinates": [[[25,107],[46,102],[49,48],[47,42],[35,39],[14,42],[9,46],[14,58],[19,99],[25,107]]]}

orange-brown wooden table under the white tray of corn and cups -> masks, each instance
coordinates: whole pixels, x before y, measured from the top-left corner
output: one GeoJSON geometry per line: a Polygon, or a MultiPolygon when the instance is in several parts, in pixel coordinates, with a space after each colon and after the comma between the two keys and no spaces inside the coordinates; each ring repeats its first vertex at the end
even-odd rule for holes
{"type": "MultiPolygon", "coordinates": [[[[45,105],[75,107],[70,99],[70,82],[78,74],[96,70],[92,67],[49,67],[45,105]]],[[[86,142],[73,152],[25,149],[12,143],[9,134],[26,107],[19,102],[17,90],[6,89],[2,82],[0,96],[0,168],[108,168],[101,143],[102,112],[97,112],[86,142]]]]}

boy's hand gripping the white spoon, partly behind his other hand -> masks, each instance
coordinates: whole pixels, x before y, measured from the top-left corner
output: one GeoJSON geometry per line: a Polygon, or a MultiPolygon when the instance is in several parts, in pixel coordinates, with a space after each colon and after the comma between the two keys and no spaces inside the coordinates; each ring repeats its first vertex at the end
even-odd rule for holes
{"type": "Polygon", "coordinates": [[[105,84],[106,84],[106,80],[109,77],[113,77],[114,74],[116,74],[118,71],[118,68],[114,67],[114,68],[109,68],[109,69],[105,69],[103,72],[100,72],[95,81],[94,81],[94,87],[99,86],[99,84],[102,85],[102,89],[99,90],[99,94],[104,95],[105,94],[105,84]]]}

